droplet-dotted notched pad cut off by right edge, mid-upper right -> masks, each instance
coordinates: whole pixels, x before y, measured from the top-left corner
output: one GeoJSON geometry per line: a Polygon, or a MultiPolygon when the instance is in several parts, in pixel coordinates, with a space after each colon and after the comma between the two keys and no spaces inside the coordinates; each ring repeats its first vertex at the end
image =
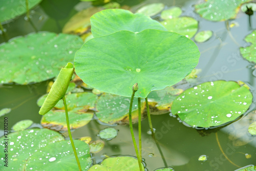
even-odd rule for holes
{"type": "Polygon", "coordinates": [[[240,48],[242,56],[251,62],[256,63],[256,30],[245,37],[245,41],[251,42],[251,46],[240,48]]]}

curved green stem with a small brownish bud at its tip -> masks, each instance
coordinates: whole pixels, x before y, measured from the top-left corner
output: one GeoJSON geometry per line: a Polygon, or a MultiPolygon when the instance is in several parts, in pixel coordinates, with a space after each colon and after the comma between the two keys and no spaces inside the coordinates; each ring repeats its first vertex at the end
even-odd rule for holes
{"type": "MultiPolygon", "coordinates": [[[[137,90],[138,90],[138,89],[137,89],[137,90]]],[[[140,155],[139,155],[139,152],[138,152],[138,147],[137,147],[136,140],[135,140],[135,136],[134,136],[134,132],[133,132],[133,123],[132,123],[133,99],[134,99],[134,94],[135,94],[135,92],[136,92],[137,90],[134,90],[134,87],[133,87],[133,94],[132,94],[132,98],[131,98],[131,102],[130,102],[130,108],[129,108],[129,125],[130,125],[130,131],[131,131],[131,134],[132,134],[133,145],[134,145],[135,152],[136,152],[136,156],[137,156],[137,159],[138,159],[140,171],[142,171],[141,159],[140,159],[140,155]]]]}

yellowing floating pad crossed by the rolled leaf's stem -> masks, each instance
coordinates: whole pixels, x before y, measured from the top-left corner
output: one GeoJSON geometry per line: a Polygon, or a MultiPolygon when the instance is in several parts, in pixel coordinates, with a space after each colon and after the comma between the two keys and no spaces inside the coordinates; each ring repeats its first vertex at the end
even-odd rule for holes
{"type": "MultiPolygon", "coordinates": [[[[71,129],[77,129],[91,121],[93,111],[90,109],[94,108],[97,98],[98,96],[89,92],[72,93],[66,96],[71,129]]],[[[42,126],[55,131],[67,131],[65,107],[62,100],[55,105],[54,109],[42,117],[42,126]]]]}

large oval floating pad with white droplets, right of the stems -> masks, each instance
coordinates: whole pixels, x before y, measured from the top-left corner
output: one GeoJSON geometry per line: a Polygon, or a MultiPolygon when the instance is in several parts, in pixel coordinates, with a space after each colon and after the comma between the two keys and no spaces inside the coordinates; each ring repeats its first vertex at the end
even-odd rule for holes
{"type": "Polygon", "coordinates": [[[251,102],[251,92],[237,82],[205,82],[181,93],[172,113],[191,126],[218,126],[237,119],[251,102]]]}

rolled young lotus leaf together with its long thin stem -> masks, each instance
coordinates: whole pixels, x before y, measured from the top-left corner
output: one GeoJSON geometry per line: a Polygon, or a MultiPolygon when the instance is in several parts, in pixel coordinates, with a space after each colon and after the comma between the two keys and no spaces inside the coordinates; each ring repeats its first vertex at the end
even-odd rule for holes
{"type": "Polygon", "coordinates": [[[45,115],[48,113],[56,104],[57,102],[62,98],[64,106],[65,106],[65,113],[66,113],[66,121],[67,121],[67,128],[68,133],[70,137],[70,141],[73,147],[74,155],[76,157],[77,165],[79,170],[81,170],[81,165],[76,153],[76,148],[72,139],[71,131],[70,131],[70,124],[69,124],[69,115],[68,115],[68,108],[67,108],[67,102],[65,98],[65,94],[68,90],[70,80],[74,73],[74,66],[72,63],[68,63],[65,68],[62,68],[59,72],[59,75],[56,79],[56,81],[53,83],[52,88],[45,99],[44,104],[42,104],[39,114],[45,115]]]}

